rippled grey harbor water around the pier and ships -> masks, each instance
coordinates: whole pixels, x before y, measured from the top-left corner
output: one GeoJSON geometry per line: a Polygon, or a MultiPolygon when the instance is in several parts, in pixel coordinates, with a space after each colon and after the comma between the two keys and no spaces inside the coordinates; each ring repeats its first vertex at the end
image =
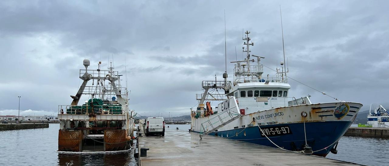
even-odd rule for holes
{"type": "MultiPolygon", "coordinates": [[[[0,165],[136,165],[133,150],[102,154],[58,153],[58,126],[49,128],[0,131],[0,165]]],[[[166,124],[169,128],[188,130],[189,124],[166,124]]],[[[328,158],[359,164],[384,166],[388,154],[389,139],[342,137],[338,154],[328,158]],[[373,155],[374,154],[374,155],[373,155]]]]}

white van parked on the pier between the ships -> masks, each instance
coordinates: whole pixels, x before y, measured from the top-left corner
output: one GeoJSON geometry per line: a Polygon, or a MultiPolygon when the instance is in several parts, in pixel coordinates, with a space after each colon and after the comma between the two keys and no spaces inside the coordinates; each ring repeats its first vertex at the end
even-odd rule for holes
{"type": "Polygon", "coordinates": [[[165,136],[165,120],[162,117],[151,117],[146,119],[146,137],[151,134],[165,136]]]}

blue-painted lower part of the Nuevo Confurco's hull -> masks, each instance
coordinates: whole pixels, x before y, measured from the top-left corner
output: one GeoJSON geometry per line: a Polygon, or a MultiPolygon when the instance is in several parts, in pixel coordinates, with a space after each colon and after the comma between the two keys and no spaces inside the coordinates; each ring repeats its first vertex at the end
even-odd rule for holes
{"type": "MultiPolygon", "coordinates": [[[[321,121],[305,123],[305,128],[307,132],[307,143],[310,147],[312,147],[313,151],[323,149],[333,144],[336,140],[338,140],[338,138],[342,137],[343,133],[348,130],[351,123],[351,121],[321,121]]],[[[291,133],[279,136],[269,136],[270,140],[287,150],[303,150],[303,147],[305,145],[303,123],[274,124],[261,126],[261,128],[263,129],[276,126],[288,126],[290,128],[291,133]]],[[[193,132],[200,133],[198,131],[193,132]]],[[[237,128],[226,131],[215,131],[213,133],[210,133],[209,135],[218,137],[228,137],[228,139],[231,140],[238,140],[242,142],[277,148],[265,136],[261,135],[258,126],[247,127],[246,129],[237,128]],[[239,134],[235,136],[237,133],[239,134]]],[[[314,155],[325,157],[334,145],[331,145],[331,147],[328,147],[327,149],[321,150],[319,152],[315,152],[314,155]]]]}

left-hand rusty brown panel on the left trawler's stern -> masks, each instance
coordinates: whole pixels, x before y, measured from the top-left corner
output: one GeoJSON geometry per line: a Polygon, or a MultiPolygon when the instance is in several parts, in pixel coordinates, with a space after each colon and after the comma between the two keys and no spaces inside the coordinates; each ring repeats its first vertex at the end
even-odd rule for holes
{"type": "Polygon", "coordinates": [[[58,151],[80,152],[81,142],[81,130],[60,130],[58,132],[58,151]]]}

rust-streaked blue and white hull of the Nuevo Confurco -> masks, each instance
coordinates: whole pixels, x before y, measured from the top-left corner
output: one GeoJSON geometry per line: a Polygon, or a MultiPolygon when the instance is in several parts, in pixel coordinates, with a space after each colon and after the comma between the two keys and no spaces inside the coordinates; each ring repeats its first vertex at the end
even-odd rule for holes
{"type": "MultiPolygon", "coordinates": [[[[229,99],[230,104],[224,104],[224,106],[228,106],[233,110],[232,112],[239,112],[240,109],[235,100],[235,97],[229,99]]],[[[219,105],[219,107],[221,106],[219,105]]],[[[312,147],[313,151],[320,150],[314,155],[325,157],[338,139],[348,130],[360,107],[362,104],[354,102],[279,107],[242,115],[209,135],[268,147],[277,147],[276,145],[278,145],[283,149],[301,151],[305,146],[306,134],[308,146],[312,147]],[[303,112],[307,114],[306,117],[302,116],[303,112]],[[259,130],[259,127],[262,131],[259,130]],[[271,143],[269,139],[276,145],[271,143]]],[[[223,112],[204,118],[192,116],[191,131],[204,133],[212,130],[219,123],[216,121],[217,119],[228,119],[228,116],[231,115],[223,112]]]]}

